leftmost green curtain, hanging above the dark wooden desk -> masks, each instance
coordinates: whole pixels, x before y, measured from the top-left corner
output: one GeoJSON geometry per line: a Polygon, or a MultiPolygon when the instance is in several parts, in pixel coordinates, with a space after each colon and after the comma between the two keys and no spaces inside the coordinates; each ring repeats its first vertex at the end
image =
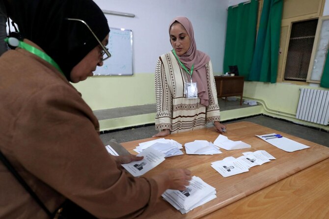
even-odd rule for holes
{"type": "Polygon", "coordinates": [[[227,9],[226,42],[223,70],[229,65],[237,65],[239,75],[249,77],[252,54],[255,48],[258,1],[240,3],[227,9]]]}

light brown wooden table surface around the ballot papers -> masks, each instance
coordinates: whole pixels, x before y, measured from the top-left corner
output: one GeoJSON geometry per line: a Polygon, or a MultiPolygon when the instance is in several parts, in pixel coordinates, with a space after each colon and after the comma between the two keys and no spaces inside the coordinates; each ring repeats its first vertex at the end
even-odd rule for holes
{"type": "MultiPolygon", "coordinates": [[[[166,138],[184,144],[194,140],[214,142],[218,135],[213,128],[209,128],[173,134],[166,138]]],[[[185,215],[182,215],[168,202],[159,198],[154,213],[148,218],[254,218],[254,215],[260,218],[285,218],[285,216],[294,218],[296,215],[301,215],[301,212],[307,211],[304,207],[306,204],[309,204],[308,208],[312,214],[319,216],[327,214],[328,216],[327,197],[329,196],[326,195],[329,194],[328,147],[250,122],[227,124],[225,136],[231,140],[242,140],[250,144],[251,148],[232,151],[221,149],[223,153],[218,155],[184,154],[166,158],[163,163],[145,174],[147,177],[168,168],[188,168],[192,171],[192,175],[200,177],[216,188],[217,198],[185,215]],[[255,137],[255,134],[264,135],[269,133],[281,134],[284,137],[306,144],[310,148],[289,153],[255,137]],[[246,173],[227,178],[222,177],[210,166],[211,162],[222,160],[225,157],[233,156],[237,158],[242,156],[243,152],[256,150],[266,150],[276,160],[254,166],[246,173]],[[321,194],[324,194],[324,197],[321,194]],[[301,206],[302,200],[300,199],[304,199],[301,206]],[[287,209],[290,209],[291,212],[288,213],[287,209]]],[[[151,139],[154,138],[130,141],[122,143],[122,145],[131,153],[136,154],[132,149],[139,142],[151,139]]]]}

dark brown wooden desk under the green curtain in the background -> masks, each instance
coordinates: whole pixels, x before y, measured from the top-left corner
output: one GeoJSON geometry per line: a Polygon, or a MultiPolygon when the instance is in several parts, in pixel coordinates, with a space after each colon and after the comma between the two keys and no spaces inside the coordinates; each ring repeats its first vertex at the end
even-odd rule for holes
{"type": "Polygon", "coordinates": [[[217,97],[240,96],[240,105],[242,105],[242,97],[244,92],[243,76],[215,76],[217,97]]]}

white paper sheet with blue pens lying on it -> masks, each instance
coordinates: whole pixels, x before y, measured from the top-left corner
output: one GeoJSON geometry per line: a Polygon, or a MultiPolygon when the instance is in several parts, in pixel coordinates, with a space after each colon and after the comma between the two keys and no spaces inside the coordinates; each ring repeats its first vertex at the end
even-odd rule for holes
{"type": "Polygon", "coordinates": [[[294,151],[302,150],[305,148],[309,148],[309,146],[307,146],[305,144],[299,143],[297,141],[291,140],[286,137],[282,137],[281,135],[277,135],[275,133],[261,135],[261,136],[257,136],[257,137],[259,137],[259,138],[265,140],[266,142],[274,145],[275,147],[277,147],[281,150],[287,151],[287,152],[294,152],[294,151]],[[276,136],[278,136],[278,137],[276,137],[276,136]]]}

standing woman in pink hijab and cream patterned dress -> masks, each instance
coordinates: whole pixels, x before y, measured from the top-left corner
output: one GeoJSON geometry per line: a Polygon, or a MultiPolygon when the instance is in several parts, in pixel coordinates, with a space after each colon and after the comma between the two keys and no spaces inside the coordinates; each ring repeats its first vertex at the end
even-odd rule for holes
{"type": "Polygon", "coordinates": [[[160,132],[153,137],[201,129],[207,122],[223,133],[212,63],[196,50],[190,20],[172,20],[169,36],[173,50],[159,57],[155,70],[155,125],[160,132]]]}

